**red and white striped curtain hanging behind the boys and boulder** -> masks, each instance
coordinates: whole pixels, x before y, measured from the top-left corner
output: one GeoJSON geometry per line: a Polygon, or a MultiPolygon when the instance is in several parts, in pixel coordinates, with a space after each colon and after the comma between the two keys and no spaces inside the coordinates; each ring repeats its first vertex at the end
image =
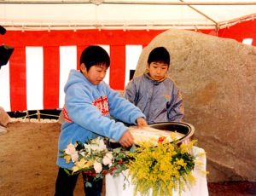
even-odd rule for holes
{"type": "MultiPolygon", "coordinates": [[[[15,47],[9,63],[0,70],[0,106],[5,111],[62,108],[63,87],[70,69],[79,69],[79,56],[91,44],[101,45],[111,64],[105,81],[113,89],[124,89],[129,70],[135,69],[143,49],[164,30],[8,31],[0,44],[15,47]]],[[[214,30],[200,32],[216,35],[214,30]]],[[[245,21],[219,30],[219,37],[256,45],[256,21],[245,21]]]]}

